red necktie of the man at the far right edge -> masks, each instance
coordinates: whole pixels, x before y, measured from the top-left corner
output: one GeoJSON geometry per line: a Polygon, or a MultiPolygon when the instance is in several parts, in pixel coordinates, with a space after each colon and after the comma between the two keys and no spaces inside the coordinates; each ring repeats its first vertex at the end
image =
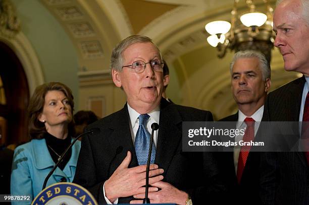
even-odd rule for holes
{"type": "MultiPolygon", "coordinates": [[[[303,107],[302,121],[303,122],[309,121],[309,92],[307,93],[305,105],[303,107]]],[[[301,126],[301,140],[302,140],[303,148],[305,151],[304,154],[307,159],[307,164],[309,165],[308,123],[309,122],[306,122],[305,124],[301,126]]]]}

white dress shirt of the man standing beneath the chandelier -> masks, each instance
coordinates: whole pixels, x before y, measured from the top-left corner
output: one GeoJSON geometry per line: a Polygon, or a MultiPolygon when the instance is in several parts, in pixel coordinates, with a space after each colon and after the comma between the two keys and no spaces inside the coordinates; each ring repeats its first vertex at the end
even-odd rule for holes
{"type": "MultiPolygon", "coordinates": [[[[240,110],[238,110],[238,122],[236,124],[236,128],[237,129],[244,129],[245,127],[247,127],[247,124],[244,122],[246,117],[251,117],[252,119],[254,119],[255,123],[254,123],[254,136],[256,134],[256,132],[259,129],[262,117],[263,117],[263,112],[264,112],[264,105],[262,105],[258,110],[256,110],[251,116],[246,116],[244,115],[240,110]]],[[[243,138],[243,135],[236,135],[235,136],[235,142],[237,142],[237,144],[239,143],[239,141],[241,141],[243,138]]],[[[237,173],[237,165],[238,165],[238,157],[239,157],[239,152],[240,152],[240,146],[234,146],[234,166],[235,166],[235,173],[237,173]]]]}

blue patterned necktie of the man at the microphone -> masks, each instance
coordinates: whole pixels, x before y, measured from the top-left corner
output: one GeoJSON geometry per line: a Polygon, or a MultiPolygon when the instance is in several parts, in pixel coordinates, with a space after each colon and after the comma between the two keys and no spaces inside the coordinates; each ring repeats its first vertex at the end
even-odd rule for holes
{"type": "MultiPolygon", "coordinates": [[[[147,131],[147,121],[149,119],[148,114],[139,115],[139,126],[135,136],[135,153],[137,157],[138,165],[147,164],[149,145],[150,145],[150,133],[147,131]]],[[[150,158],[150,164],[155,163],[156,147],[153,143],[152,152],[150,158]]]]}

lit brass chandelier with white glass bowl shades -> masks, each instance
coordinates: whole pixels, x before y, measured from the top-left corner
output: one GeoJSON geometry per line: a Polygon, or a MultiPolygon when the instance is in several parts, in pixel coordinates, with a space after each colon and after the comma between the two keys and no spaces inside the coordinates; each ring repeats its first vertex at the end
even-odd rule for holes
{"type": "Polygon", "coordinates": [[[234,1],[231,12],[231,23],[227,21],[213,21],[205,26],[211,34],[208,43],[218,48],[218,57],[225,56],[227,49],[234,50],[258,50],[265,54],[268,62],[271,60],[271,49],[274,47],[273,34],[273,8],[267,0],[263,0],[266,6],[266,14],[256,11],[252,0],[245,0],[249,11],[238,14],[237,4],[234,1]]]}

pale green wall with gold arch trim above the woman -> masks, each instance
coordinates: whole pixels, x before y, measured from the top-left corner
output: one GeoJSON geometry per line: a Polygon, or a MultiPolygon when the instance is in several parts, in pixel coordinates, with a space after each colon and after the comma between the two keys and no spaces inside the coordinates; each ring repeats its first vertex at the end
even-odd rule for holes
{"type": "MultiPolygon", "coordinates": [[[[38,0],[6,0],[6,2],[16,9],[21,31],[15,37],[8,39],[11,45],[4,42],[21,60],[30,93],[32,94],[35,87],[44,82],[58,81],[68,85],[74,97],[78,99],[77,50],[63,26],[38,0]]],[[[5,10],[1,12],[0,14],[6,14],[5,10]]],[[[13,17],[10,14],[8,19],[13,17]]],[[[78,102],[75,105],[78,107],[78,102]]]]}

